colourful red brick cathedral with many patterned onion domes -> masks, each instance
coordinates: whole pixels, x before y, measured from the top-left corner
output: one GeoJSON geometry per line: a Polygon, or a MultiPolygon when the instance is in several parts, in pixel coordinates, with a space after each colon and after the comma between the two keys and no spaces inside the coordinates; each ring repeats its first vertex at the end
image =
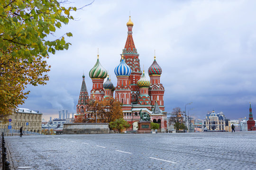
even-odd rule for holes
{"type": "MultiPolygon", "coordinates": [[[[102,67],[98,54],[96,64],[89,72],[92,80],[90,98],[101,101],[108,97],[114,97],[115,92],[115,99],[122,103],[123,118],[132,125],[128,130],[137,130],[140,120],[139,111],[142,110],[142,112],[147,112],[150,115],[152,122],[160,124],[161,131],[163,132],[166,130],[167,125],[164,106],[165,88],[160,83],[162,69],[154,57],[152,65],[148,68],[150,80],[146,78],[144,70],[142,74],[139,54],[132,37],[133,22],[131,18],[127,22],[127,27],[128,37],[121,54],[120,63],[115,68],[118,80],[116,87],[111,83],[107,70],[102,67]],[[104,82],[105,78],[107,80],[104,82]]],[[[75,120],[81,115],[86,117],[88,108],[89,94],[84,77],[83,75],[75,120]]]]}

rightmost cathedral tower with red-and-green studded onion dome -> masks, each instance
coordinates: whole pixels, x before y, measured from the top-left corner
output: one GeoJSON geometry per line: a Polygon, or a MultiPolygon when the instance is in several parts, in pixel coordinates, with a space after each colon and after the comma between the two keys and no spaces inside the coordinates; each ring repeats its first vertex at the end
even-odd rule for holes
{"type": "Polygon", "coordinates": [[[155,57],[152,65],[148,68],[148,75],[150,77],[149,95],[151,99],[151,105],[154,106],[155,102],[159,104],[161,110],[165,110],[164,107],[164,93],[165,88],[160,83],[160,76],[162,74],[162,68],[157,64],[155,57]]]}

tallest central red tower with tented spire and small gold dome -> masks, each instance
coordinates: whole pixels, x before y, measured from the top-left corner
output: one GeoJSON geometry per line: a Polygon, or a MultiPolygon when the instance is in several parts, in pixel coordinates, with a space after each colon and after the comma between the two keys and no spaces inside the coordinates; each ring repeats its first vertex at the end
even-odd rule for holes
{"type": "Polygon", "coordinates": [[[131,68],[131,74],[128,79],[128,84],[131,89],[131,103],[137,103],[139,95],[139,87],[137,86],[137,82],[142,73],[138,59],[139,54],[137,53],[137,49],[135,48],[132,38],[133,22],[131,21],[131,17],[129,17],[129,21],[126,25],[128,28],[128,36],[122,54],[124,55],[126,64],[131,68]]]}

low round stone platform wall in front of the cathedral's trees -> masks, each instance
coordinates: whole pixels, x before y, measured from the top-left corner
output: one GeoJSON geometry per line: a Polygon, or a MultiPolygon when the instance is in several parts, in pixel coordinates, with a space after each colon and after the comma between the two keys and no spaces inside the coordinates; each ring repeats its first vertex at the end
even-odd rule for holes
{"type": "Polygon", "coordinates": [[[63,134],[109,134],[109,123],[64,123],[63,134]]]}

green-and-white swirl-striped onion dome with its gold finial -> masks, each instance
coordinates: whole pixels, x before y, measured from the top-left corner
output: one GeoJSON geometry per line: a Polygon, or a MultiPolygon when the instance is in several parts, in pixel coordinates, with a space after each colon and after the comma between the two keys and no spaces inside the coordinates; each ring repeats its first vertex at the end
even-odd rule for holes
{"type": "Polygon", "coordinates": [[[108,75],[108,72],[105,68],[101,66],[101,63],[99,61],[99,54],[96,64],[91,68],[89,72],[89,76],[91,78],[106,78],[108,75]]]}

